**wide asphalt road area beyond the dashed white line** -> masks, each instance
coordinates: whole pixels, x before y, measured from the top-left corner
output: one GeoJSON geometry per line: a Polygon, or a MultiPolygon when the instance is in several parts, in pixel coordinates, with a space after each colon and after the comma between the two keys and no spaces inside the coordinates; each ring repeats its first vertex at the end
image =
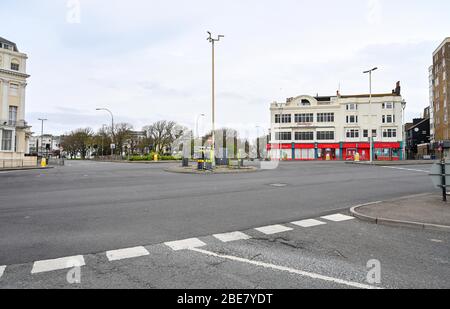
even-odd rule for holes
{"type": "Polygon", "coordinates": [[[238,175],[164,167],[73,161],[0,173],[0,265],[246,230],[434,190],[429,166],[283,163],[238,175]]]}

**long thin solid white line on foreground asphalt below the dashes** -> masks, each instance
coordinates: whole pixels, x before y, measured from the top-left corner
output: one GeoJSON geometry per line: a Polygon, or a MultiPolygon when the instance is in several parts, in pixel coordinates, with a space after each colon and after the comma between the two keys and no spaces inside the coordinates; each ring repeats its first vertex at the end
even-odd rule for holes
{"type": "Polygon", "coordinates": [[[222,259],[236,261],[236,262],[241,262],[241,263],[252,264],[252,265],[255,265],[255,266],[260,266],[260,267],[273,269],[273,270],[285,271],[285,272],[289,272],[289,273],[292,273],[292,274],[297,274],[297,275],[300,275],[300,276],[303,276],[303,277],[308,277],[308,278],[312,278],[312,279],[319,279],[319,280],[334,282],[334,283],[337,283],[337,284],[347,285],[347,286],[351,286],[351,287],[354,287],[354,288],[359,288],[359,289],[381,289],[379,287],[371,286],[371,285],[367,285],[367,284],[363,284],[363,283],[342,280],[342,279],[328,277],[328,276],[324,276],[324,275],[320,275],[320,274],[316,274],[316,273],[311,273],[311,272],[307,272],[307,271],[303,271],[303,270],[299,270],[299,269],[294,269],[294,268],[289,268],[289,267],[285,267],[285,266],[279,266],[279,265],[274,265],[274,264],[269,264],[269,263],[264,263],[264,262],[258,262],[258,261],[254,261],[254,260],[248,260],[248,259],[244,259],[244,258],[240,258],[240,257],[236,257],[236,256],[231,256],[231,255],[221,255],[221,254],[217,254],[217,253],[206,251],[206,250],[202,250],[202,249],[192,248],[190,250],[198,252],[198,253],[206,254],[206,255],[209,255],[209,256],[217,257],[217,258],[222,258],[222,259]]]}

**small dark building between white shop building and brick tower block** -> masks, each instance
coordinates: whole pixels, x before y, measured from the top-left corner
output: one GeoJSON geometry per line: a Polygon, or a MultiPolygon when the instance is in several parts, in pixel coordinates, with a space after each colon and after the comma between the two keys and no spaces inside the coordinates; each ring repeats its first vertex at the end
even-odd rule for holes
{"type": "Polygon", "coordinates": [[[430,108],[427,107],[422,118],[413,119],[412,123],[406,125],[406,157],[414,160],[430,155],[429,147],[424,146],[429,145],[430,138],[430,108]],[[422,149],[420,154],[419,145],[422,149]]]}

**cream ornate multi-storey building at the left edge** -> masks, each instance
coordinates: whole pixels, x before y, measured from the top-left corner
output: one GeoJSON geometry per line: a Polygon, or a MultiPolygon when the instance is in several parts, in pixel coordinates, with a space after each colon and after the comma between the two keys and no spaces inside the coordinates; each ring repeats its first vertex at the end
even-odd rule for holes
{"type": "Polygon", "coordinates": [[[31,135],[25,121],[29,77],[26,61],[27,55],[20,53],[15,43],[0,38],[0,161],[3,165],[5,162],[18,165],[24,159],[31,135]]]}

